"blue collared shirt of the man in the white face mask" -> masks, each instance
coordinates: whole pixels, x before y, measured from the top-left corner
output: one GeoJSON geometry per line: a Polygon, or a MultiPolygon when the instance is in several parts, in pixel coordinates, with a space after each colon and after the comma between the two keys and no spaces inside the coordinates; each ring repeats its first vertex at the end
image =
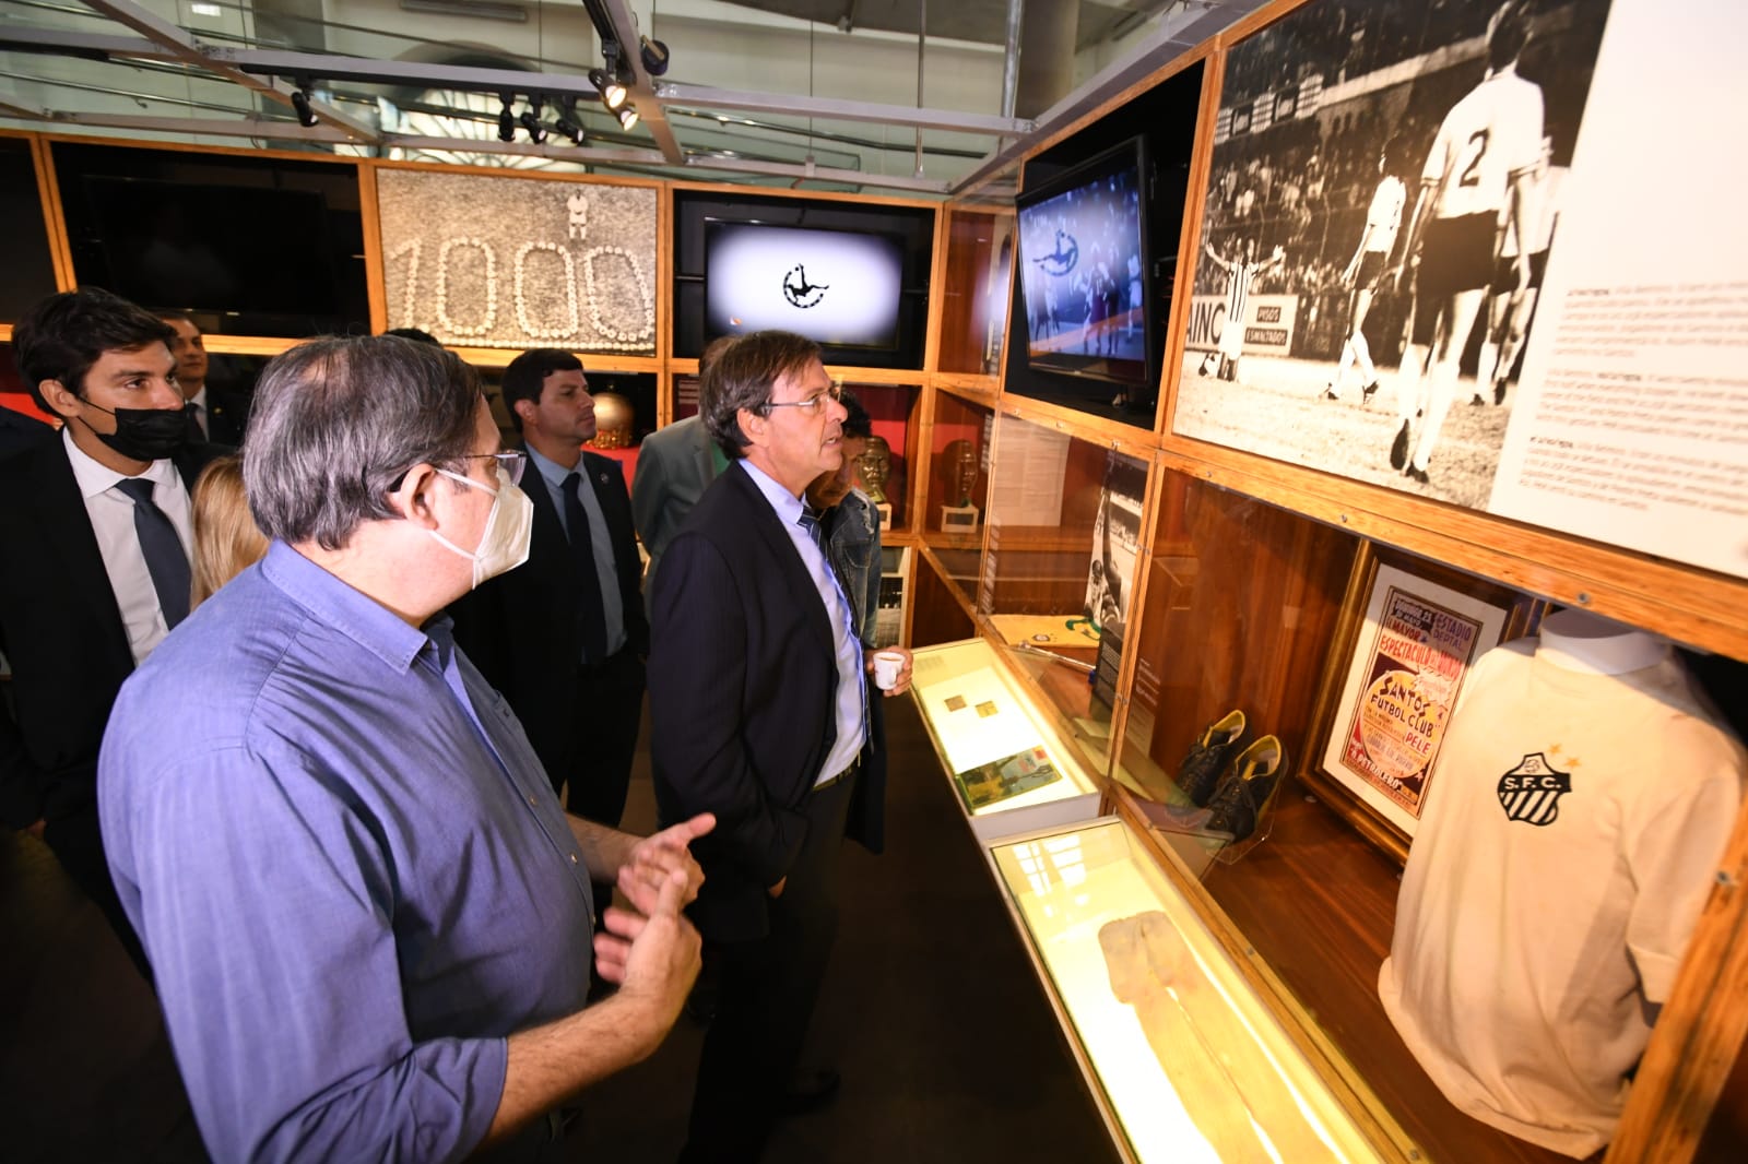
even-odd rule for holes
{"type": "Polygon", "coordinates": [[[213,1159],[458,1161],[505,1038],[584,1005],[589,874],[516,717],[447,617],[285,544],[128,680],[98,788],[213,1159]]]}

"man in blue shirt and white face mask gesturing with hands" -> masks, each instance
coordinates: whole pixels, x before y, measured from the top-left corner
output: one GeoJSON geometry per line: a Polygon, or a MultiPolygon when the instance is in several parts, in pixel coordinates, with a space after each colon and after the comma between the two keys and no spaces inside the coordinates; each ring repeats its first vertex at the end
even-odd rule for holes
{"type": "Polygon", "coordinates": [[[267,558],[115,703],[110,870],[215,1159],[535,1159],[697,972],[678,911],[713,821],[638,841],[566,816],[440,613],[526,558],[521,468],[453,355],[287,351],[245,465],[267,558]],[[594,939],[621,989],[584,1010],[591,876],[633,911],[594,939]]]}

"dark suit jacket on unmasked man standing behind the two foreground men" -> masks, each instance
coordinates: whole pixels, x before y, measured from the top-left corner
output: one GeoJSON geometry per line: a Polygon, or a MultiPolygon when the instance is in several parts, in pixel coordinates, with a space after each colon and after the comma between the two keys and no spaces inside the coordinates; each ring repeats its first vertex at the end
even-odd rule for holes
{"type": "MultiPolygon", "coordinates": [[[[643,561],[631,531],[626,474],[610,456],[587,451],[577,472],[594,488],[607,517],[614,565],[619,568],[619,601],[626,612],[626,650],[647,655],[650,627],[638,589],[643,561]]],[[[580,760],[573,755],[573,725],[580,701],[577,664],[582,661],[582,634],[573,612],[577,596],[593,594],[598,584],[593,575],[579,573],[545,481],[530,477],[538,477],[531,465],[523,477],[523,493],[535,507],[528,561],[488,579],[451,605],[449,613],[454,617],[454,641],[486,682],[509,699],[547,773],[563,778],[577,771],[580,760]]]]}

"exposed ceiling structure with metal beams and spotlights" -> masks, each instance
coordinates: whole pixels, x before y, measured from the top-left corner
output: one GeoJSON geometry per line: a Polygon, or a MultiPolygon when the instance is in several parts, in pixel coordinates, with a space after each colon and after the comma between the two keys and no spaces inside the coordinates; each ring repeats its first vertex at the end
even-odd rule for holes
{"type": "Polygon", "coordinates": [[[0,124],[953,196],[1262,2],[3,0],[0,124]]]}

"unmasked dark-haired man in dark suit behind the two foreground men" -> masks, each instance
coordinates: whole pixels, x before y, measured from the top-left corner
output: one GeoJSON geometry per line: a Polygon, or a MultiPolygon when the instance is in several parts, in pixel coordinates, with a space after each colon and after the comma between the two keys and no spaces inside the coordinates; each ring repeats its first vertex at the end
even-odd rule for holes
{"type": "Polygon", "coordinates": [[[503,369],[533,500],[528,565],[451,606],[456,641],[503,692],[570,811],[617,827],[643,717],[649,620],[619,461],[586,453],[594,398],[582,364],[537,348],[503,369]]]}

